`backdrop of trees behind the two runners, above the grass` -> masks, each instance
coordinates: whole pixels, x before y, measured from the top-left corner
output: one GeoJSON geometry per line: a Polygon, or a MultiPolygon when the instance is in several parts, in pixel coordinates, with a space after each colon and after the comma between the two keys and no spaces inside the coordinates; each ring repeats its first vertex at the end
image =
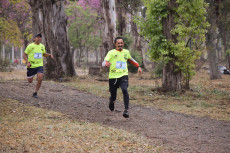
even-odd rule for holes
{"type": "Polygon", "coordinates": [[[42,33],[47,52],[56,57],[45,64],[47,79],[75,76],[75,66],[100,66],[116,36],[125,38],[145,70],[162,77],[164,91],[189,89],[206,61],[210,79],[221,78],[220,64],[230,65],[228,1],[2,0],[0,5],[1,65],[7,58],[22,62],[33,35],[42,33]]]}

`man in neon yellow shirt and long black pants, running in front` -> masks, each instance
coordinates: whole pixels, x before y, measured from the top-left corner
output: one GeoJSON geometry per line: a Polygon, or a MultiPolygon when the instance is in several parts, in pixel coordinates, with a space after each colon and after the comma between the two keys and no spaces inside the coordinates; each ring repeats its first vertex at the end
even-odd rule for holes
{"type": "Polygon", "coordinates": [[[130,52],[124,47],[122,37],[117,37],[114,40],[115,49],[110,50],[102,63],[103,67],[109,67],[109,91],[110,102],[109,109],[114,111],[114,102],[117,97],[117,89],[121,87],[124,99],[125,110],[123,116],[129,117],[129,94],[128,94],[128,66],[127,61],[138,68],[138,73],[141,76],[142,70],[139,64],[131,57],[130,52]]]}

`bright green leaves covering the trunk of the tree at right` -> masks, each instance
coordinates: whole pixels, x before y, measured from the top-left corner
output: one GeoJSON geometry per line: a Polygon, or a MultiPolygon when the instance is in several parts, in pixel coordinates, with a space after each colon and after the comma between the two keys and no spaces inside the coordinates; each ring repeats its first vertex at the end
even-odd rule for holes
{"type": "MultiPolygon", "coordinates": [[[[207,6],[204,0],[176,0],[177,7],[174,21],[175,27],[171,34],[177,36],[178,43],[166,39],[163,35],[162,21],[168,17],[169,0],[143,0],[147,7],[146,18],[139,17],[141,34],[149,41],[150,57],[155,61],[173,61],[183,74],[190,77],[194,74],[194,61],[200,57],[201,45],[205,41],[207,6]],[[189,42],[191,46],[188,46],[189,42]],[[189,74],[189,75],[187,75],[189,74]]],[[[185,77],[186,77],[185,76],[185,77]]]]}

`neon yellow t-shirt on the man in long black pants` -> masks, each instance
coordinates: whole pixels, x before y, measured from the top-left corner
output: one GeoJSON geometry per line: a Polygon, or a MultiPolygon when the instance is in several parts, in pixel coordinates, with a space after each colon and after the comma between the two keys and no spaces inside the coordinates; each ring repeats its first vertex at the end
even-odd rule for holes
{"type": "Polygon", "coordinates": [[[110,50],[105,57],[105,61],[111,63],[109,68],[109,79],[128,75],[127,60],[131,58],[130,52],[127,49],[123,49],[122,51],[117,51],[116,49],[110,50]]]}

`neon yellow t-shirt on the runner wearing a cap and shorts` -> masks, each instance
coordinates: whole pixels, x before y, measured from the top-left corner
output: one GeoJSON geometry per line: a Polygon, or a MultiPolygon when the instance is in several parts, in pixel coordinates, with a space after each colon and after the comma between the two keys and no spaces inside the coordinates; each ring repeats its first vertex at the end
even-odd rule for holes
{"type": "Polygon", "coordinates": [[[30,68],[43,66],[43,54],[46,53],[46,49],[43,44],[29,44],[26,47],[25,53],[28,55],[28,62],[31,64],[30,68]]]}

